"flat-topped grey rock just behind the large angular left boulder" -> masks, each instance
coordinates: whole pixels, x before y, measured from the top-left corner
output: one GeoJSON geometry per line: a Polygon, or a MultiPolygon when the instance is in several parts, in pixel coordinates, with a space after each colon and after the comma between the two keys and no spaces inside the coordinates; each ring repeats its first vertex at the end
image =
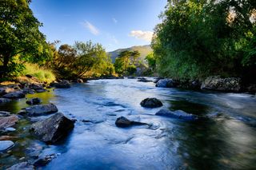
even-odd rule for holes
{"type": "Polygon", "coordinates": [[[57,113],[58,109],[56,105],[50,103],[46,105],[33,105],[31,107],[22,109],[19,114],[26,115],[29,117],[42,116],[44,114],[57,113]]]}

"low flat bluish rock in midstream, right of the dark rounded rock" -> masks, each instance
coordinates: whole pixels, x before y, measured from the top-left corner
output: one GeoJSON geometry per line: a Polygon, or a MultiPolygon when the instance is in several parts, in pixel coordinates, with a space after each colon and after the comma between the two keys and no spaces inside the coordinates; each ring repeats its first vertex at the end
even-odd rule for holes
{"type": "Polygon", "coordinates": [[[185,121],[197,121],[198,116],[190,113],[186,113],[182,110],[170,111],[168,109],[161,109],[155,115],[162,116],[162,117],[170,117],[174,119],[182,119],[185,121]]]}

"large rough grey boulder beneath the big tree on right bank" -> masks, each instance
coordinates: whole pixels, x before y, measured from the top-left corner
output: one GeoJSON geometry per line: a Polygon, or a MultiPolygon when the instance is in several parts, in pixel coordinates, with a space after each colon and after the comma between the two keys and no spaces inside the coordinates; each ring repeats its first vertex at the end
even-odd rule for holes
{"type": "Polygon", "coordinates": [[[210,89],[224,92],[239,92],[241,90],[241,79],[238,77],[207,77],[206,80],[203,81],[201,89],[210,89]]]}

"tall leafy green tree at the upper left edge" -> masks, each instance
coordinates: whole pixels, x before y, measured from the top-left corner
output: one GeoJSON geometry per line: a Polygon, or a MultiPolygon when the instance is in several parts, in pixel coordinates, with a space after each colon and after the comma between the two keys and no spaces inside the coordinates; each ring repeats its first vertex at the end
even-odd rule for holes
{"type": "Polygon", "coordinates": [[[46,61],[51,57],[50,46],[38,30],[42,23],[34,18],[30,0],[0,2],[0,67],[1,77],[16,69],[14,57],[23,61],[46,61]]]}

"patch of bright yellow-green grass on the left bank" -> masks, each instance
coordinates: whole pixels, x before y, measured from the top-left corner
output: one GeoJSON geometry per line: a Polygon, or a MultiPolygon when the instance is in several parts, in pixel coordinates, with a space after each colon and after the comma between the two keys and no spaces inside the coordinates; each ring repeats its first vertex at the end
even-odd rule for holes
{"type": "Polygon", "coordinates": [[[37,64],[25,64],[26,69],[23,71],[24,75],[30,74],[38,78],[39,81],[50,83],[55,80],[55,75],[50,69],[45,69],[37,64]]]}

